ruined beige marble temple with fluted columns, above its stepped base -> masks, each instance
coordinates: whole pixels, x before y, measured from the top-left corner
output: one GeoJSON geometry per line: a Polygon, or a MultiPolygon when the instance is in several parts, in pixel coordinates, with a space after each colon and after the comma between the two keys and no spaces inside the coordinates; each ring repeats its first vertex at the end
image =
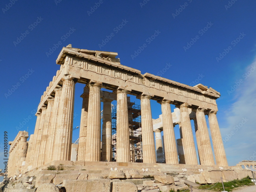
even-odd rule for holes
{"type": "Polygon", "coordinates": [[[62,48],[56,60],[60,70],[49,83],[38,105],[34,134],[27,141],[28,133],[20,131],[15,140],[9,143],[10,176],[52,161],[71,160],[76,83],[84,84],[77,161],[113,161],[111,102],[116,100],[115,161],[133,162],[129,136],[130,94],[141,101],[143,163],[228,166],[216,116],[216,99],[220,93],[202,84],[191,87],[150,73],[141,74],[137,69],[122,65],[117,55],[116,52],[78,49],[71,45],[62,48]],[[150,100],[156,100],[161,106],[159,119],[152,120],[150,100]],[[176,106],[173,113],[170,104],[176,106]],[[205,115],[208,115],[214,150],[205,115]],[[190,123],[192,119],[199,162],[190,123]],[[177,124],[179,139],[174,134],[177,124]]]}

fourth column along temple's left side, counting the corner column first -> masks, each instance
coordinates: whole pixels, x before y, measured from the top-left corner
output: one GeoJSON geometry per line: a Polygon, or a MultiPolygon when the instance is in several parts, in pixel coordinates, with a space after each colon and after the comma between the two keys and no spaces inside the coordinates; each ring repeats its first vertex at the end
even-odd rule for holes
{"type": "Polygon", "coordinates": [[[35,151],[34,151],[34,158],[33,158],[33,168],[36,168],[37,166],[40,166],[41,161],[38,158],[39,157],[39,152],[40,152],[40,145],[41,145],[41,137],[42,137],[42,129],[43,129],[43,125],[44,125],[44,120],[45,120],[45,114],[46,114],[46,106],[42,106],[42,113],[41,113],[41,117],[40,117],[40,121],[39,121],[39,125],[38,125],[38,131],[37,131],[37,137],[36,137],[36,141],[35,141],[35,151]]]}

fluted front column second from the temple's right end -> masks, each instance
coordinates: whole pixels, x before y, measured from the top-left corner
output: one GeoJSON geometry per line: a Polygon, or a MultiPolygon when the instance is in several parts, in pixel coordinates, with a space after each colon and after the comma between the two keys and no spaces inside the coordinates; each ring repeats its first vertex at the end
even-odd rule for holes
{"type": "Polygon", "coordinates": [[[196,109],[197,132],[199,132],[199,144],[201,153],[199,154],[201,165],[215,165],[209,132],[205,119],[205,109],[196,109]]]}

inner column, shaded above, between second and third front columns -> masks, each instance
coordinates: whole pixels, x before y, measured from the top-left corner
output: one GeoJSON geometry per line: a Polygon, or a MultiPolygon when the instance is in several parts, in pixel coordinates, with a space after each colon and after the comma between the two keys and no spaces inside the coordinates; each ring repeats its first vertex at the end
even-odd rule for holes
{"type": "Polygon", "coordinates": [[[111,127],[111,102],[114,99],[102,98],[102,161],[112,161],[112,127],[111,127]]]}

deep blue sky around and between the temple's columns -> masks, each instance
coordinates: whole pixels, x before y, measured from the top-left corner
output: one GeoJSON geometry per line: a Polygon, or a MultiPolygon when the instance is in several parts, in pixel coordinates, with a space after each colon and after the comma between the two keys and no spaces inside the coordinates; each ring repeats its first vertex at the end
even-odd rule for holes
{"type": "MultiPolygon", "coordinates": [[[[255,160],[254,1],[4,0],[0,8],[1,158],[4,131],[13,141],[16,127],[28,119],[20,130],[33,134],[34,110],[60,67],[57,56],[72,44],[118,52],[121,64],[142,74],[216,89],[221,93],[217,117],[229,165],[255,160]],[[137,55],[138,49],[143,50],[137,55]]],[[[76,85],[74,127],[80,124],[82,88],[76,85]]],[[[152,109],[157,118],[161,106],[152,101],[152,109]]],[[[73,140],[78,134],[74,130],[73,140]]]]}

